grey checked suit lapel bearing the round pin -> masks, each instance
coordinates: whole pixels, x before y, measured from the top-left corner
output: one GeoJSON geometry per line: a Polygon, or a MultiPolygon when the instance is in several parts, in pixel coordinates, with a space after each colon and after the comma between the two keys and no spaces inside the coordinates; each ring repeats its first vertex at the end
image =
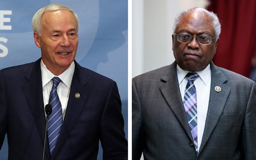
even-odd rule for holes
{"type": "Polygon", "coordinates": [[[205,120],[204,134],[203,134],[198,155],[200,154],[201,150],[204,148],[204,145],[209,139],[210,135],[212,134],[213,129],[216,127],[230,92],[230,88],[224,84],[224,82],[228,80],[227,77],[212,62],[211,62],[211,72],[212,72],[212,78],[211,78],[210,99],[209,99],[207,116],[205,120]],[[219,86],[221,88],[220,92],[217,92],[215,90],[216,86],[219,86]]]}

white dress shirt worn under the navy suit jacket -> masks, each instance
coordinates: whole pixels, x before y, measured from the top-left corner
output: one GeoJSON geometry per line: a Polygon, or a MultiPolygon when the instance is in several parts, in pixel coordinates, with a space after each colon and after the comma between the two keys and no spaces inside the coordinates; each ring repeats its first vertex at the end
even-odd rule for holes
{"type": "MultiPolygon", "coordinates": [[[[72,62],[71,65],[68,67],[68,69],[58,76],[61,79],[61,82],[58,85],[57,93],[60,98],[63,120],[64,120],[66,109],[67,109],[70,86],[71,86],[74,71],[75,71],[75,62],[72,62]]],[[[44,99],[44,106],[45,106],[48,104],[48,101],[49,101],[50,92],[52,90],[52,84],[53,84],[52,78],[55,75],[52,74],[52,72],[46,68],[42,60],[41,60],[41,74],[42,74],[42,85],[43,85],[43,99],[44,99]]],[[[46,117],[46,114],[45,114],[45,117],[46,117]]]]}

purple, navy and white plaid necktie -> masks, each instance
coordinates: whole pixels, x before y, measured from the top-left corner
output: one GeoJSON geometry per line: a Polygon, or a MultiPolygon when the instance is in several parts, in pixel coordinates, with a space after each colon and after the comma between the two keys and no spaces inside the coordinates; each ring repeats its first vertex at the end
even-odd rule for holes
{"type": "Polygon", "coordinates": [[[199,75],[197,73],[189,72],[186,75],[188,79],[188,84],[186,86],[183,104],[185,107],[186,115],[188,118],[188,125],[193,137],[194,145],[196,148],[196,154],[198,153],[197,148],[197,103],[196,103],[196,87],[194,85],[194,80],[199,75]]]}

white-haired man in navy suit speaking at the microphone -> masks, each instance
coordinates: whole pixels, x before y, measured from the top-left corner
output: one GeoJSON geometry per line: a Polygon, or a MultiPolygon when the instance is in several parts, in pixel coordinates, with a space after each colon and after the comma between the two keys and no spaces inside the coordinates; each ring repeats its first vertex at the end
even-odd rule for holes
{"type": "Polygon", "coordinates": [[[42,57],[0,71],[0,145],[8,159],[127,159],[124,119],[116,82],[76,61],[78,18],[60,4],[38,10],[32,27],[42,57]],[[49,106],[49,105],[48,105],[49,106]],[[49,111],[50,112],[50,111],[49,111]]]}

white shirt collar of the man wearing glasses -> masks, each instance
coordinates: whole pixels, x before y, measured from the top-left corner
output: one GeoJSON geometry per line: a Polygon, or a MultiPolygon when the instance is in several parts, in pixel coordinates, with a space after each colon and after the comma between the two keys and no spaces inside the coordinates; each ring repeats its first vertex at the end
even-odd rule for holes
{"type": "MultiPolygon", "coordinates": [[[[189,71],[187,70],[183,70],[180,68],[180,66],[177,64],[177,75],[178,75],[178,81],[179,84],[182,82],[182,80],[185,78],[185,76],[188,74],[189,71]]],[[[211,78],[211,68],[210,68],[210,64],[208,64],[208,66],[199,72],[196,72],[199,77],[201,78],[201,80],[204,82],[204,85],[207,85],[210,78],[211,78]]]]}

